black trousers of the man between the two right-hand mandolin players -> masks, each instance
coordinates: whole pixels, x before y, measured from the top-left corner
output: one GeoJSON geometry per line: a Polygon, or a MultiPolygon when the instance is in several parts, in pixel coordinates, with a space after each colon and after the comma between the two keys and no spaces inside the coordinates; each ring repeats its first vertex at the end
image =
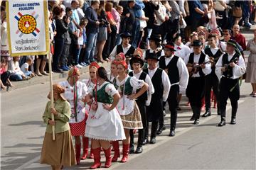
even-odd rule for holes
{"type": "Polygon", "coordinates": [[[220,101],[220,85],[218,77],[214,72],[208,74],[205,77],[205,101],[206,101],[206,111],[210,111],[210,91],[213,89],[213,93],[216,96],[217,105],[219,106],[220,101]]]}

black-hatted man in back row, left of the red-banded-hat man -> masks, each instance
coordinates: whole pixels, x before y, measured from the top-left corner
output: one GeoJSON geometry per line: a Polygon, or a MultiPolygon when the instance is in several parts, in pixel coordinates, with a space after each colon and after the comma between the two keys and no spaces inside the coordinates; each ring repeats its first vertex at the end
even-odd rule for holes
{"type": "Polygon", "coordinates": [[[161,35],[159,34],[151,34],[149,38],[149,50],[146,50],[143,54],[143,59],[149,55],[149,53],[156,53],[158,57],[164,55],[164,50],[161,47],[161,35]]]}

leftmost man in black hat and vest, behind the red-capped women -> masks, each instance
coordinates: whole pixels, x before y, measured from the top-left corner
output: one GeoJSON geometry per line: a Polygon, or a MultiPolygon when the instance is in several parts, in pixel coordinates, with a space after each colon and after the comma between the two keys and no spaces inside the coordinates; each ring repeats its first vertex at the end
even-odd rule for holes
{"type": "Polygon", "coordinates": [[[122,33],[120,36],[122,38],[122,43],[113,48],[112,52],[110,53],[110,60],[114,60],[116,55],[120,52],[124,52],[125,56],[130,56],[134,53],[135,48],[129,44],[132,35],[130,33],[122,33]]]}

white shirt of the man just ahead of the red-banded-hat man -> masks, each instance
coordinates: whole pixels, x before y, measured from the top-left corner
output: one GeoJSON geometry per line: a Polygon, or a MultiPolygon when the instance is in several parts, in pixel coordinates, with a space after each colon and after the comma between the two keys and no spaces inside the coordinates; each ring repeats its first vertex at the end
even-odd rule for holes
{"type": "MultiPolygon", "coordinates": [[[[156,69],[158,69],[158,68],[156,67],[155,69],[148,69],[150,79],[152,79],[152,77],[154,76],[156,69]]],[[[163,101],[166,101],[169,96],[171,83],[170,83],[168,75],[164,71],[161,74],[161,79],[162,79],[162,84],[164,86],[163,101]]]]}

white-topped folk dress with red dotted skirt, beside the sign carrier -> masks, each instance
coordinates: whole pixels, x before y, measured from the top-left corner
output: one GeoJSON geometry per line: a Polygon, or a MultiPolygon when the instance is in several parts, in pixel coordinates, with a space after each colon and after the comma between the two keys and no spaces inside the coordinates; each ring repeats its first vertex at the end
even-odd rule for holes
{"type": "Polygon", "coordinates": [[[73,136],[85,135],[86,110],[83,102],[88,94],[85,83],[77,81],[76,86],[71,86],[68,81],[60,82],[60,86],[65,89],[64,96],[71,106],[70,131],[73,136]]]}

